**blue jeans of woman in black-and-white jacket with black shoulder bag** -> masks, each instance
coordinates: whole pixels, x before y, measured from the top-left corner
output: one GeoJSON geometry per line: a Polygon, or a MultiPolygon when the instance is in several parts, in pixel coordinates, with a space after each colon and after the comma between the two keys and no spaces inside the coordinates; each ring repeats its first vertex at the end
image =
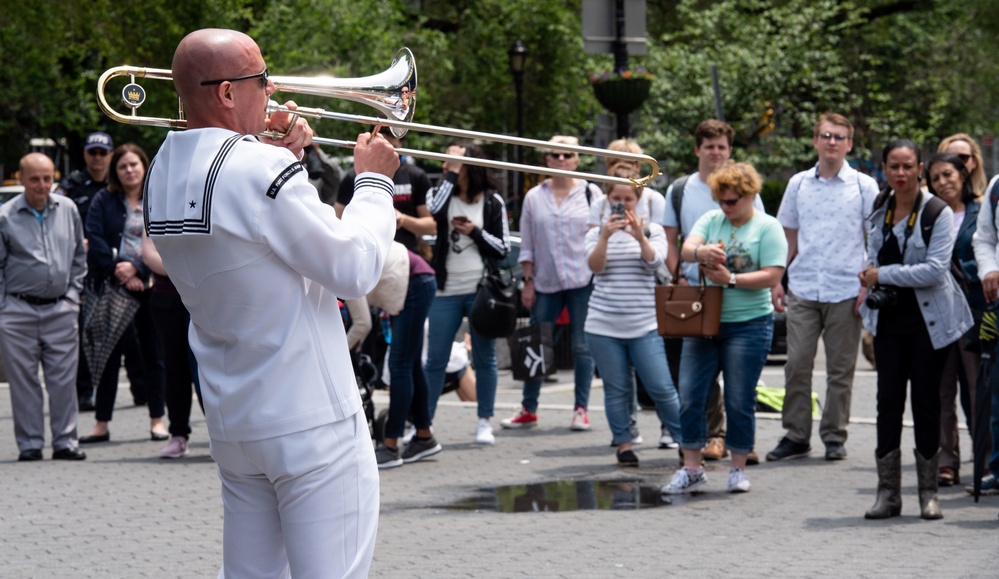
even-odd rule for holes
{"type": "MultiPolygon", "coordinates": [[[[437,399],[444,389],[444,369],[451,358],[451,343],[461,327],[461,320],[472,310],[475,294],[437,296],[430,306],[430,336],[427,351],[427,408],[433,420],[437,399]]],[[[479,418],[491,418],[496,401],[496,340],[483,338],[471,326],[472,365],[475,366],[475,396],[479,418]]]]}

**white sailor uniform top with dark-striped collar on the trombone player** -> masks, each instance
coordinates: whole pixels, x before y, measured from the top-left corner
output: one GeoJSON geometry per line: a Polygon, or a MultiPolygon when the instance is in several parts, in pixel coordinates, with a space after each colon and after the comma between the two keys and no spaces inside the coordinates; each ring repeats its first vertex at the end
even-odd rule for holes
{"type": "Polygon", "coordinates": [[[213,439],[272,438],[360,409],[336,298],[378,282],[395,235],[391,179],[361,174],[339,220],[288,150],[196,129],[167,136],[144,200],[191,313],[213,439]]]}

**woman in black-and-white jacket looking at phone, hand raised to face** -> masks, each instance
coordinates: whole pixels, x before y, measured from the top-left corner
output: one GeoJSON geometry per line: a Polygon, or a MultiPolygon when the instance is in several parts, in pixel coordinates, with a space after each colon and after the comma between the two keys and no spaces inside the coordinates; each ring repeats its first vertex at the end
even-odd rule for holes
{"type": "MultiPolygon", "coordinates": [[[[449,155],[485,158],[470,142],[452,143],[449,155]]],[[[444,179],[432,191],[427,207],[437,222],[437,242],[431,266],[437,278],[437,295],[430,306],[427,337],[427,388],[430,419],[444,388],[444,370],[451,357],[451,344],[469,315],[475,292],[487,267],[495,267],[510,253],[506,205],[484,167],[454,161],[444,163],[444,179]]],[[[496,400],[496,340],[469,329],[472,335],[472,366],[479,419],[475,442],[493,444],[496,400]]]]}

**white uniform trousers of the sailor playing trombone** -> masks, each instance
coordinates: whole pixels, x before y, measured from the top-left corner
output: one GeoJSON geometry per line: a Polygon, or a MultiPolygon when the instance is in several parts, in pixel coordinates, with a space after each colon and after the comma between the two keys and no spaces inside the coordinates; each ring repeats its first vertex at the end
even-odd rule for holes
{"type": "Polygon", "coordinates": [[[225,509],[220,578],[367,577],[379,483],[360,413],[266,440],[212,440],[211,449],[225,509]]]}

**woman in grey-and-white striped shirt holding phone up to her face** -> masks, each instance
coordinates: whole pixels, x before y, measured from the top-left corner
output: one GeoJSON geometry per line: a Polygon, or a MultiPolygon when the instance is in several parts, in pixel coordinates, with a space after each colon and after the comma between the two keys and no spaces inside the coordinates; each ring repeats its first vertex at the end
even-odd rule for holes
{"type": "MultiPolygon", "coordinates": [[[[614,175],[637,179],[628,167],[614,175]]],[[[586,315],[586,342],[604,381],[604,407],[621,466],[638,466],[632,450],[629,407],[634,368],[656,413],[674,438],[680,435],[680,402],[670,378],[656,325],[656,270],[666,259],[666,233],[635,213],[640,187],[607,186],[610,217],[586,234],[586,258],[594,273],[586,315]]]]}

